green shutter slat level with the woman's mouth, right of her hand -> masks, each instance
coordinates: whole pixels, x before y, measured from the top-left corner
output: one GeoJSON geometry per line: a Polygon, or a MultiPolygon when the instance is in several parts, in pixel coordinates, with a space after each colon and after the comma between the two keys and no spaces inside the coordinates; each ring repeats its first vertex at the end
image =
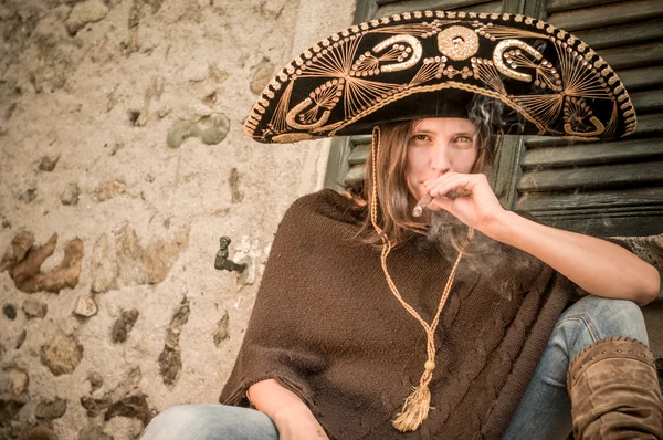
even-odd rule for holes
{"type": "Polygon", "coordinates": [[[529,171],[523,174],[516,188],[519,192],[564,191],[576,188],[623,188],[635,184],[663,184],[663,161],[529,171]]]}

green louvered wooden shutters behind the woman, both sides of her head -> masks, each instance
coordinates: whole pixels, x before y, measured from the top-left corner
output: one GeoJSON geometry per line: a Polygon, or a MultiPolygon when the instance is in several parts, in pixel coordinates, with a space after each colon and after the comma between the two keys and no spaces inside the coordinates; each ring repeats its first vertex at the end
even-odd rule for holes
{"type": "MultiPolygon", "coordinates": [[[[408,10],[511,12],[544,18],[586,41],[618,72],[639,115],[634,135],[606,143],[507,136],[495,192],[508,209],[594,235],[663,232],[661,0],[359,0],[355,22],[408,10]]],[[[370,137],[333,143],[326,186],[361,179],[370,137]]]]}

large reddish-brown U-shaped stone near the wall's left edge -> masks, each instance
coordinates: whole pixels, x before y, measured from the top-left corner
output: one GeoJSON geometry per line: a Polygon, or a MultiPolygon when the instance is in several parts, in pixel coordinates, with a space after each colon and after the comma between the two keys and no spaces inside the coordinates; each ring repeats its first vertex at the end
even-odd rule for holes
{"type": "MultiPolygon", "coordinates": [[[[43,247],[31,247],[24,258],[9,264],[9,275],[17,287],[25,293],[54,292],[78,284],[83,262],[83,241],[74,239],[66,243],[64,258],[50,273],[42,273],[42,263],[53,254],[57,234],[53,234],[43,247]]],[[[15,252],[14,252],[15,255],[15,252]]]]}

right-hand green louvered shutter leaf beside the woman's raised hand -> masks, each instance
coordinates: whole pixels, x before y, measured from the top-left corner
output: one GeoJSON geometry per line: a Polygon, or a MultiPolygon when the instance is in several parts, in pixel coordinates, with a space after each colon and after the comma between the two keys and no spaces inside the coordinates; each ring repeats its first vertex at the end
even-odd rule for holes
{"type": "Polygon", "coordinates": [[[512,208],[592,235],[663,232],[663,1],[548,0],[545,11],[615,70],[638,128],[604,143],[525,138],[512,208]]]}

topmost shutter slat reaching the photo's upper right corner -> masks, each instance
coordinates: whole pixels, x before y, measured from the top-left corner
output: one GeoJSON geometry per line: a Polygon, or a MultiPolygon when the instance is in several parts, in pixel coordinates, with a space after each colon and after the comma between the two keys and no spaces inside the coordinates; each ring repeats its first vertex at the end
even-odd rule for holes
{"type": "Polygon", "coordinates": [[[661,0],[636,0],[610,3],[594,8],[583,8],[550,14],[547,22],[573,32],[581,29],[593,29],[631,21],[651,20],[663,13],[661,0]]]}

